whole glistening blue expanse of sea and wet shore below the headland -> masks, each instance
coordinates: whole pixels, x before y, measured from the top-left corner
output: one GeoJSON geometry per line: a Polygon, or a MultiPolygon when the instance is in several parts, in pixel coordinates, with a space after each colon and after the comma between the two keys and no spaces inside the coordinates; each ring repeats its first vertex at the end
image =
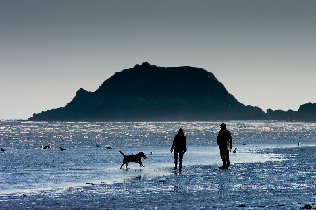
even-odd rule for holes
{"type": "Polygon", "coordinates": [[[0,120],[0,209],[316,206],[316,123],[223,122],[0,120]],[[219,169],[223,122],[237,151],[230,169],[219,169]],[[187,140],[181,172],[173,171],[170,152],[180,128],[187,140]],[[146,167],[120,169],[119,151],[144,152],[146,167]]]}

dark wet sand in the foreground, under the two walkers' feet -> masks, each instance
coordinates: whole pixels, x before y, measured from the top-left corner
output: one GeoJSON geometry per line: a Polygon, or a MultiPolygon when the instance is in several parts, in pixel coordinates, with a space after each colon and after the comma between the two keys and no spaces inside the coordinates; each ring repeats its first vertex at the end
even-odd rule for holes
{"type": "Polygon", "coordinates": [[[108,170],[94,169],[104,174],[99,180],[86,179],[94,185],[77,179],[64,187],[2,192],[0,207],[236,209],[244,204],[247,209],[299,209],[316,202],[315,146],[240,146],[237,154],[230,155],[229,170],[219,169],[216,148],[196,147],[185,154],[183,172],[173,171],[172,162],[156,163],[161,156],[170,161],[171,153],[164,149],[155,148],[153,155],[147,155],[146,168],[134,163],[120,170],[118,163],[108,170]],[[24,193],[28,196],[22,197],[24,193]]]}

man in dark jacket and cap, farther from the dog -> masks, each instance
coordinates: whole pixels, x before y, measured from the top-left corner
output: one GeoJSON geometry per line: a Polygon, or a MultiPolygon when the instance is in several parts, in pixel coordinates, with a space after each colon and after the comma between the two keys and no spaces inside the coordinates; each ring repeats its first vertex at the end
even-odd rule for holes
{"type": "Polygon", "coordinates": [[[221,124],[221,130],[217,135],[218,148],[221,151],[221,158],[223,161],[223,166],[221,169],[229,168],[229,150],[233,148],[233,138],[229,130],[226,129],[226,124],[221,124]]]}

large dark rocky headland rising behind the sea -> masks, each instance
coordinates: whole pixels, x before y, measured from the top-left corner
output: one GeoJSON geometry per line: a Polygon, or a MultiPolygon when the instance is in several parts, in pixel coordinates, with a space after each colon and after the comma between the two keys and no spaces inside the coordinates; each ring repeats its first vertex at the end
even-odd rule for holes
{"type": "Polygon", "coordinates": [[[28,121],[316,121],[316,104],[298,111],[244,105],[202,68],[158,67],[145,62],[116,72],[94,92],[80,88],[70,103],[28,121]]]}

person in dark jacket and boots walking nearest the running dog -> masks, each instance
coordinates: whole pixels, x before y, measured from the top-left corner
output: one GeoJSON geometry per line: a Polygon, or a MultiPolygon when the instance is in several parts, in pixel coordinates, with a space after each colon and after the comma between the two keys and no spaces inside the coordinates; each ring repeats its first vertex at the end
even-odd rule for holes
{"type": "Polygon", "coordinates": [[[174,136],[173,143],[171,146],[171,152],[174,149],[174,168],[173,170],[177,170],[178,165],[178,154],[179,154],[179,171],[182,171],[182,158],[183,153],[186,152],[186,138],[183,133],[183,130],[180,128],[177,135],[174,136]]]}

